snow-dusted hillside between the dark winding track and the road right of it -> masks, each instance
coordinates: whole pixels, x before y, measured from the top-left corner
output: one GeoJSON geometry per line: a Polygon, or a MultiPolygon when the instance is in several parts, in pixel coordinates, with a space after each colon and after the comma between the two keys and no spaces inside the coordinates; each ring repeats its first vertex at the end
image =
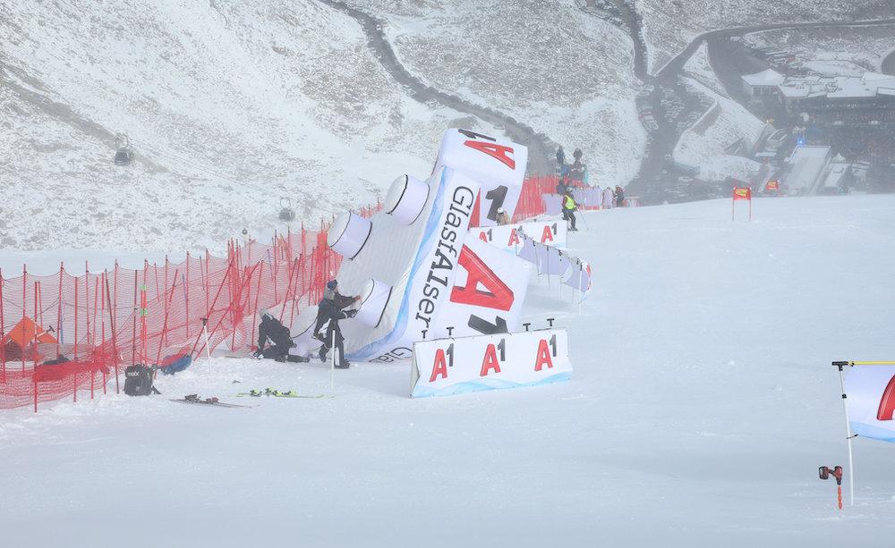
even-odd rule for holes
{"type": "Polygon", "coordinates": [[[350,4],[383,21],[401,63],[430,85],[581,148],[594,181],[635,175],[646,135],[624,31],[564,0],[350,4]]]}

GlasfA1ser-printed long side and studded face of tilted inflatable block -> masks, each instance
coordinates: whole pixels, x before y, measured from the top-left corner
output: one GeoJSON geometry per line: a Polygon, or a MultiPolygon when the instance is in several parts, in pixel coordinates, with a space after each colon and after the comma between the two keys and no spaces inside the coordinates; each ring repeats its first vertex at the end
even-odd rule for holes
{"type": "MultiPolygon", "coordinates": [[[[369,294],[371,299],[369,316],[362,313],[364,321],[340,322],[348,359],[410,358],[413,341],[422,340],[423,332],[432,328],[454,287],[457,259],[479,185],[447,168],[439,169],[425,184],[428,192],[413,190],[413,201],[426,197],[417,218],[386,211],[373,215],[366,244],[353,260],[342,261],[336,276],[339,291],[345,295],[369,294]],[[369,286],[371,279],[376,281],[374,288],[369,286]]],[[[400,203],[407,198],[405,194],[405,198],[392,200],[396,202],[392,207],[400,210],[400,203]]],[[[417,208],[414,205],[413,210],[417,208]]]]}

